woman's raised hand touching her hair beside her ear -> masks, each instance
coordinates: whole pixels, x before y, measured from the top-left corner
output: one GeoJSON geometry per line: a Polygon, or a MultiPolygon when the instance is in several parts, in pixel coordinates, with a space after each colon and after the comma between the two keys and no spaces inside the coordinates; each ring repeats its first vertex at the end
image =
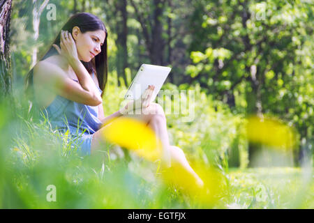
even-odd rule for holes
{"type": "Polygon", "coordinates": [[[60,47],[58,45],[53,44],[52,45],[55,49],[57,49],[57,52],[61,56],[64,56],[68,62],[75,61],[78,59],[77,55],[77,48],[75,45],[75,41],[68,31],[61,30],[60,33],[60,47]]]}

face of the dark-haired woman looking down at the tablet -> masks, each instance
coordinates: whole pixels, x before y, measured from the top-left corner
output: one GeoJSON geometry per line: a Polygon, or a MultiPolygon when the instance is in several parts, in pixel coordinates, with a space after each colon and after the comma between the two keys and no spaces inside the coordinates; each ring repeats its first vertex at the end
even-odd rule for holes
{"type": "Polygon", "coordinates": [[[72,31],[72,36],[76,43],[79,59],[84,62],[89,62],[101,52],[100,47],[105,41],[106,33],[103,30],[82,33],[80,29],[75,26],[72,31]]]}

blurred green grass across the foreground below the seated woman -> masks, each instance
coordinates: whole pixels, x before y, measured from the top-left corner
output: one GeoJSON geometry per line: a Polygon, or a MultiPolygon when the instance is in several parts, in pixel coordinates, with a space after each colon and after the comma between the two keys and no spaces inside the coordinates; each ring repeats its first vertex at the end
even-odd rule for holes
{"type": "Polygon", "coordinates": [[[80,157],[47,125],[26,126],[6,156],[2,208],[314,208],[311,168],[220,169],[229,187],[204,204],[163,183],[157,164],[132,154],[113,159],[112,145],[80,157]],[[56,202],[47,202],[47,185],[57,187],[56,202]]]}

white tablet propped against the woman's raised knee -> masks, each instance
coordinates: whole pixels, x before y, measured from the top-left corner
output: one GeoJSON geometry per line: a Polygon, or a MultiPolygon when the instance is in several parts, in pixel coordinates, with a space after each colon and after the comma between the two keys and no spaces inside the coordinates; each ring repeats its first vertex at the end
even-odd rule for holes
{"type": "Polygon", "coordinates": [[[154,85],[154,93],[151,97],[151,102],[154,102],[158,92],[160,91],[165,79],[170,73],[171,68],[164,66],[156,66],[150,64],[142,64],[137,71],[137,75],[128,87],[128,92],[124,95],[125,99],[137,100],[149,85],[154,85]]]}

